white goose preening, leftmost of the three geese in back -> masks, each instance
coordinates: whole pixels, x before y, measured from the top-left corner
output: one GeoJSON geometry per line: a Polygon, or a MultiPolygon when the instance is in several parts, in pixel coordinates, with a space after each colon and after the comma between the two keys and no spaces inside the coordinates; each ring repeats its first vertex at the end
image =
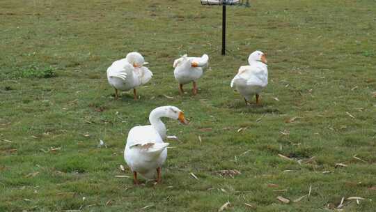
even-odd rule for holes
{"type": "Polygon", "coordinates": [[[137,99],[136,87],[149,82],[152,72],[145,66],[143,56],[138,52],[130,52],[125,59],[112,63],[107,68],[107,79],[115,89],[115,98],[118,98],[118,90],[130,91],[133,89],[134,99],[137,99]]]}

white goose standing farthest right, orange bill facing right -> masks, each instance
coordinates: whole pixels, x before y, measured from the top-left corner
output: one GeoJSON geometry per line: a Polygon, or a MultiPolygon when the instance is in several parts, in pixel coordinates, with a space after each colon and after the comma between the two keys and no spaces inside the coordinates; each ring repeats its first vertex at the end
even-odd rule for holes
{"type": "Polygon", "coordinates": [[[256,94],[258,104],[260,92],[267,86],[266,54],[260,51],[253,52],[249,55],[248,62],[249,66],[240,66],[237,75],[231,81],[231,87],[242,94],[246,105],[256,94]]]}

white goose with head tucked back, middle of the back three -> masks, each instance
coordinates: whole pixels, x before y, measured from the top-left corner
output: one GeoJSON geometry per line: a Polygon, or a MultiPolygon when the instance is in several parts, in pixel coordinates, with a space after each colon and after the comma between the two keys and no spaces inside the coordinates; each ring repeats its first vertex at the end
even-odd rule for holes
{"type": "Polygon", "coordinates": [[[173,74],[179,82],[180,94],[184,93],[182,86],[193,82],[193,93],[197,93],[196,80],[203,75],[203,71],[209,66],[209,56],[203,54],[201,57],[188,57],[187,54],[173,62],[173,74]]]}

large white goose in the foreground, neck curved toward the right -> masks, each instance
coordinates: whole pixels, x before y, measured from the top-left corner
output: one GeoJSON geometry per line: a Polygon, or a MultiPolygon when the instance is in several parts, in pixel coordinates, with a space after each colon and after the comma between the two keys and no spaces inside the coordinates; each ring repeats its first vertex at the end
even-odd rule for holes
{"type": "Polygon", "coordinates": [[[162,117],[178,119],[187,123],[184,113],[173,106],[157,107],[150,112],[151,125],[136,126],[130,130],[125,145],[124,158],[133,172],[134,183],[138,184],[137,173],[145,179],[153,179],[157,173],[157,182],[161,181],[161,167],[167,158],[169,143],[164,143],[166,126],[161,121],[162,117]]]}

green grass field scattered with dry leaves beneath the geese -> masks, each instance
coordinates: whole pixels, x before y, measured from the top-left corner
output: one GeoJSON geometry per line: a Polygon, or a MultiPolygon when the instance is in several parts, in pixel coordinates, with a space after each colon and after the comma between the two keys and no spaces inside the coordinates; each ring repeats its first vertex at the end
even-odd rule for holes
{"type": "Polygon", "coordinates": [[[375,211],[376,2],[251,3],[228,7],[220,56],[221,8],[200,1],[1,1],[0,211],[375,211]],[[254,50],[269,85],[246,107],[230,80],[254,50]],[[131,51],[154,77],[114,100],[107,67],[131,51]],[[210,54],[197,96],[178,95],[185,53],[210,54]],[[165,120],[162,184],[115,177],[161,105],[191,120],[165,120]]]}

